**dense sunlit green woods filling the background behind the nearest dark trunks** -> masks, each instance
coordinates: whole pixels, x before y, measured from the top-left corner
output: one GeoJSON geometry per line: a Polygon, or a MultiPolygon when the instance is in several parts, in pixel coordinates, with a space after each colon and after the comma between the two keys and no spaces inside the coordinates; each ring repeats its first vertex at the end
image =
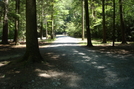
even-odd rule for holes
{"type": "MultiPolygon", "coordinates": [[[[83,32],[87,36],[83,5],[83,0],[36,0],[38,37],[53,39],[55,33],[83,37],[83,32]]],[[[134,41],[134,0],[88,0],[88,11],[92,38],[104,43],[134,41]]],[[[1,42],[13,39],[17,43],[25,38],[25,0],[0,0],[1,42]]]]}

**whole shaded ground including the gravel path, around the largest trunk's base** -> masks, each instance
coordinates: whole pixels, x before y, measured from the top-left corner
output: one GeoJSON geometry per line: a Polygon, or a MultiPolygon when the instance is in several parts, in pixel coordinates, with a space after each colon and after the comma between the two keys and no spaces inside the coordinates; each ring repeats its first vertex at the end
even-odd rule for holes
{"type": "Polygon", "coordinates": [[[81,40],[57,36],[39,42],[45,63],[10,65],[25,52],[0,44],[0,89],[134,89],[134,45],[81,46],[81,40]]]}

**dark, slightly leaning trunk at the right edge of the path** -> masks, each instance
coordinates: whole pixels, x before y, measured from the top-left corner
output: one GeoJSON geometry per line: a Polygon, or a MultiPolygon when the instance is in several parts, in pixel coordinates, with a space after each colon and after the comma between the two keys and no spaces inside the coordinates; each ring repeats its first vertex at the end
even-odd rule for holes
{"type": "Polygon", "coordinates": [[[89,26],[89,11],[88,11],[88,0],[85,0],[85,14],[86,14],[86,30],[87,30],[87,46],[91,47],[91,33],[90,33],[90,26],[89,26]]]}

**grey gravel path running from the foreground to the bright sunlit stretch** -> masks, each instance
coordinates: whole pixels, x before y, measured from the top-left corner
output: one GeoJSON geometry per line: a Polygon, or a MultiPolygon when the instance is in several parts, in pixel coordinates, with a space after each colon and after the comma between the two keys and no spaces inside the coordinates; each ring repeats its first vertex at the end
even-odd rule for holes
{"type": "Polygon", "coordinates": [[[53,70],[42,77],[51,80],[38,89],[134,89],[134,56],[97,52],[78,40],[58,36],[46,51],[53,70]]]}

